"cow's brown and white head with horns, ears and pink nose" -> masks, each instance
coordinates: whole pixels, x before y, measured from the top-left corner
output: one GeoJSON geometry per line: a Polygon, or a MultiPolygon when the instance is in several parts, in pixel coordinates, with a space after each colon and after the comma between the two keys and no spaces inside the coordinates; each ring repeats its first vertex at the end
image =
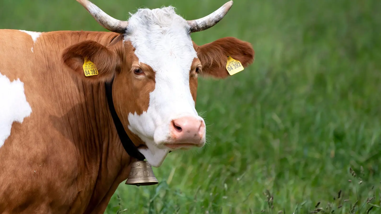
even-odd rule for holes
{"type": "Polygon", "coordinates": [[[173,7],[139,9],[128,21],[120,21],[88,0],[77,1],[119,36],[107,46],[90,40],[72,45],[63,53],[64,62],[88,81],[114,78],[118,117],[134,143],[146,146],[139,150],[147,161],[157,167],[169,150],[203,147],[205,122],[195,110],[197,77],[226,78],[227,56],[247,67],[254,50],[250,43],[233,37],[198,46],[190,34],[214,26],[233,2],[192,21],[176,14],[173,7]],[[96,64],[98,75],[85,77],[84,57],[96,64]]]}

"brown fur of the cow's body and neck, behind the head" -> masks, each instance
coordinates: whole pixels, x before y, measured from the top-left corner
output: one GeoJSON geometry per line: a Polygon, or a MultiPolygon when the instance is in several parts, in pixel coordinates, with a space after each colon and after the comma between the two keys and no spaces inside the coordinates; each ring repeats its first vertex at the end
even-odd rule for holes
{"type": "Polygon", "coordinates": [[[61,64],[61,53],[86,40],[108,46],[118,34],[46,32],[35,43],[18,30],[0,36],[0,72],[20,78],[32,107],[0,148],[0,213],[103,213],[131,158],[110,117],[104,83],[89,84],[61,64]]]}

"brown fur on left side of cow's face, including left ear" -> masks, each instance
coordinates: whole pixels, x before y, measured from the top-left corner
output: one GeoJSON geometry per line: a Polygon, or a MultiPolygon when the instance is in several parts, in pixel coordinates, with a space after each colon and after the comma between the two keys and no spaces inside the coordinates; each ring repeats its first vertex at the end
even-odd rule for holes
{"type": "Polygon", "coordinates": [[[111,81],[113,83],[113,100],[118,116],[125,121],[123,125],[128,135],[133,138],[136,146],[144,145],[138,136],[131,133],[127,128],[128,114],[138,113],[139,115],[147,111],[149,105],[149,93],[155,89],[155,72],[149,65],[139,64],[139,59],[134,54],[131,42],[123,45],[123,36],[119,35],[106,46],[86,40],[72,45],[62,53],[62,60],[73,73],[84,81],[99,83],[111,81]],[[83,73],[84,58],[96,64],[99,74],[86,77],[83,73]],[[137,79],[131,68],[138,65],[146,75],[146,78],[137,79]],[[134,101],[134,102],[131,102],[134,101]]]}

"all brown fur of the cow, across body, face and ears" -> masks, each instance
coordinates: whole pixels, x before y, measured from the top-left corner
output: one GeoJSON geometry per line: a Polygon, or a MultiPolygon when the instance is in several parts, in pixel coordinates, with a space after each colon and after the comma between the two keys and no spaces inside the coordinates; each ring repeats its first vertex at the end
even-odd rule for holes
{"type": "MultiPolygon", "coordinates": [[[[104,81],[115,76],[115,109],[134,144],[144,145],[127,128],[127,118],[147,110],[155,71],[138,64],[131,43],[123,45],[123,37],[111,32],[46,32],[35,43],[18,30],[0,30],[0,37],[0,72],[20,78],[32,107],[0,148],[0,213],[103,213],[132,161],[110,117],[104,81]],[[99,75],[85,77],[85,56],[99,75]],[[144,78],[134,73],[136,66],[144,78]]],[[[254,56],[249,43],[231,37],[194,47],[194,101],[200,63],[203,74],[224,78],[227,54],[244,66],[254,56]]]]}

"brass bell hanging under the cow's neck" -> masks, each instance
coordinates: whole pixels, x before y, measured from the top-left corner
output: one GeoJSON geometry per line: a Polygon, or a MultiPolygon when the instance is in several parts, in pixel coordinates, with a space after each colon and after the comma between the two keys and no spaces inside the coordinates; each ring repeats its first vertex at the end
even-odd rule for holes
{"type": "Polygon", "coordinates": [[[128,185],[148,186],[158,184],[154,171],[147,161],[136,161],[131,164],[131,172],[126,180],[128,185]]]}

